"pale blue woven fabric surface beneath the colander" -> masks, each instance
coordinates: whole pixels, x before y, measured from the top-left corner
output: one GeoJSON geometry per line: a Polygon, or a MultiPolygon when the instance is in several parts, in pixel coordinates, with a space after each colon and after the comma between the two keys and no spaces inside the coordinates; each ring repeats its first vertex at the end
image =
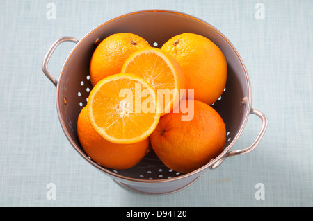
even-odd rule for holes
{"type": "MultiPolygon", "coordinates": [[[[311,0],[1,0],[0,19],[0,206],[313,206],[311,0]],[[47,17],[49,3],[55,17],[47,17]],[[246,64],[252,107],[268,117],[254,151],[161,196],[128,191],[77,154],[58,121],[56,87],[41,69],[58,37],[81,39],[104,21],[145,9],[184,12],[218,28],[246,64]],[[50,183],[55,200],[47,197],[50,183]],[[264,200],[255,197],[259,183],[264,200]]],[[[52,56],[56,78],[73,47],[64,43],[52,56]]],[[[250,115],[234,149],[248,147],[260,127],[250,115]]]]}

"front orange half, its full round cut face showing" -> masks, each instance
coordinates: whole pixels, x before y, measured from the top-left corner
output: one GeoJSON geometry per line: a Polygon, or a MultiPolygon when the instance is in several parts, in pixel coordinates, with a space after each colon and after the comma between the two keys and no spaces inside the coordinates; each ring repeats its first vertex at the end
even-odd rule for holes
{"type": "Polygon", "coordinates": [[[112,143],[146,139],[160,118],[157,92],[143,78],[129,73],[100,80],[90,91],[87,105],[91,125],[112,143]]]}

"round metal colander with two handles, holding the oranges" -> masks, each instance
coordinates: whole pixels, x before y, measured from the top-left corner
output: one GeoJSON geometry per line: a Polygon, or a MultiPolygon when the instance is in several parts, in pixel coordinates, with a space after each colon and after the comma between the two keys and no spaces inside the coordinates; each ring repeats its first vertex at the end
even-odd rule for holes
{"type": "Polygon", "coordinates": [[[250,80],[246,67],[230,41],[216,28],[201,19],[181,12],[144,10],[132,12],[106,21],[90,31],[82,39],[61,37],[49,48],[42,62],[42,71],[56,86],[58,117],[72,146],[95,168],[109,175],[115,182],[133,191],[149,194],[166,194],[179,191],[197,180],[205,171],[214,169],[226,158],[246,154],[256,148],[267,127],[266,116],[251,107],[250,80]],[[207,165],[191,173],[183,174],[167,168],[150,150],[133,168],[113,170],[99,166],[81,148],[77,136],[77,118],[87,104],[93,88],[89,76],[90,58],[97,44],[113,33],[134,33],[147,40],[151,46],[161,47],[171,37],[181,33],[195,33],[211,39],[223,51],[227,60],[227,84],[222,96],[212,105],[225,122],[227,138],[224,151],[207,165]],[[62,42],[75,42],[58,81],[49,73],[47,64],[56,47],[62,42]],[[248,116],[256,114],[262,119],[262,127],[252,145],[242,150],[232,150],[245,127],[248,116]]]}

